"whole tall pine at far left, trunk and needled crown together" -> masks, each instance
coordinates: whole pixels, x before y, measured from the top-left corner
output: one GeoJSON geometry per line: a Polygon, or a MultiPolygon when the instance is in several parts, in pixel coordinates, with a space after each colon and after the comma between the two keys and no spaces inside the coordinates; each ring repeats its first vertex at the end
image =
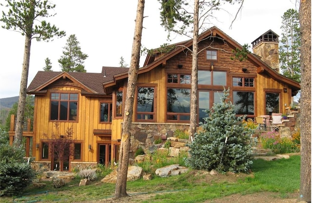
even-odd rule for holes
{"type": "MultiPolygon", "coordinates": [[[[55,25],[46,22],[44,18],[51,17],[48,10],[54,9],[55,4],[49,0],[5,0],[7,12],[2,11],[0,21],[4,22],[2,28],[20,32],[25,36],[24,56],[20,81],[20,98],[17,113],[17,125],[15,129],[14,144],[19,147],[22,138],[22,125],[24,122],[24,109],[26,103],[26,89],[30,61],[31,40],[49,41],[51,38],[65,35],[55,25]]],[[[0,5],[3,6],[1,3],[0,5]]]]}

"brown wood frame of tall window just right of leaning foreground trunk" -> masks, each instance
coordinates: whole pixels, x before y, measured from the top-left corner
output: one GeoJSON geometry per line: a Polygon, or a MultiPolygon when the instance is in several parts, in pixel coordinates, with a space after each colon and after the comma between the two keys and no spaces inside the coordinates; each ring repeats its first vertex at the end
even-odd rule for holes
{"type": "Polygon", "coordinates": [[[138,83],[136,87],[136,99],[135,99],[135,121],[137,122],[155,122],[157,116],[157,84],[150,83],[138,83]],[[137,111],[137,89],[138,88],[154,88],[154,111],[153,113],[137,111]],[[137,119],[137,114],[153,114],[153,119],[137,119]]]}

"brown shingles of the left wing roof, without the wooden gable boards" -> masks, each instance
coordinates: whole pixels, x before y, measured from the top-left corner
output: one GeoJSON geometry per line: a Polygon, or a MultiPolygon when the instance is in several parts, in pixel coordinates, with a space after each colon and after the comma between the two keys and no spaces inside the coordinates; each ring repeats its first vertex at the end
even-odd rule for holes
{"type": "MultiPolygon", "coordinates": [[[[114,75],[128,72],[128,68],[120,67],[102,67],[101,73],[80,73],[67,72],[87,89],[92,90],[94,94],[105,94],[102,83],[110,82],[114,79],[114,75]]],[[[65,72],[46,72],[39,71],[27,88],[28,93],[35,92],[42,85],[49,84],[50,81],[57,77],[61,77],[65,72]]],[[[52,82],[53,83],[53,82],[52,82]]]]}

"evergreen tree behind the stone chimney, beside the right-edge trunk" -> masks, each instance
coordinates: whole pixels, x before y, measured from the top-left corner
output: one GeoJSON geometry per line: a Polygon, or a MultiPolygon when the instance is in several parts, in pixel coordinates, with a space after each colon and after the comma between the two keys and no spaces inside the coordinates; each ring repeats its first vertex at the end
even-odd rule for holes
{"type": "Polygon", "coordinates": [[[282,16],[282,38],[279,61],[282,74],[300,82],[300,28],[299,13],[288,9],[282,16]]]}

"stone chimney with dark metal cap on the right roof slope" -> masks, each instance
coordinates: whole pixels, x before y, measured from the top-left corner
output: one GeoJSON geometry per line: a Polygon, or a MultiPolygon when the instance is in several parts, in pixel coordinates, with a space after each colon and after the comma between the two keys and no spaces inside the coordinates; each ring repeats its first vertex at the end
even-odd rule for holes
{"type": "Polygon", "coordinates": [[[260,56],[261,60],[277,73],[279,73],[278,37],[269,30],[252,42],[254,54],[260,56]]]}

